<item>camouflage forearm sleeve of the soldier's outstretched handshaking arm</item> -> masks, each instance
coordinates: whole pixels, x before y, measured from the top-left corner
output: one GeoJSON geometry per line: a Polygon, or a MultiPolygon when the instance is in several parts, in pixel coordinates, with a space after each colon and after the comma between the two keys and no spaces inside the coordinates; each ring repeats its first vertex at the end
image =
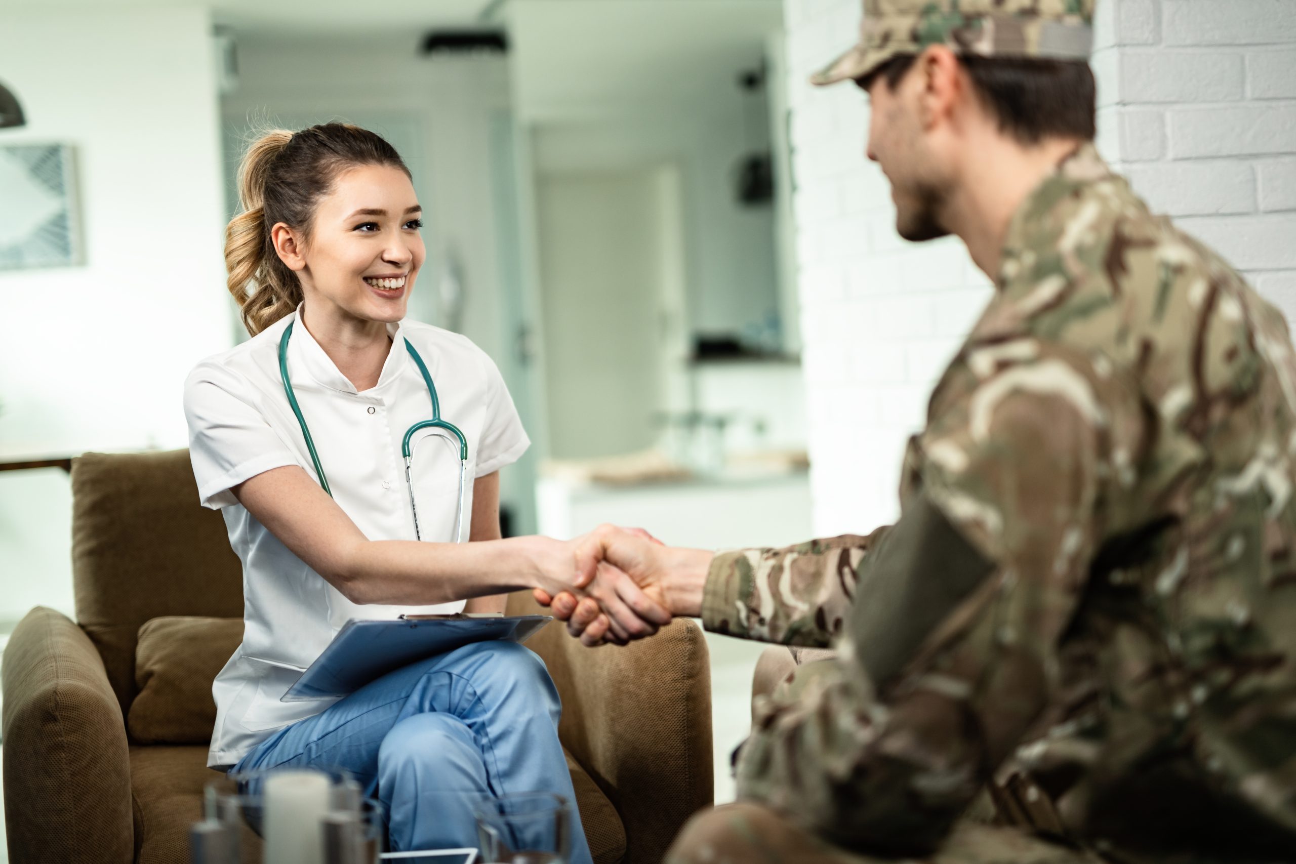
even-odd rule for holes
{"type": "Polygon", "coordinates": [[[859,567],[885,532],[717,554],[702,597],[704,626],[741,639],[828,648],[850,615],[859,567]]]}

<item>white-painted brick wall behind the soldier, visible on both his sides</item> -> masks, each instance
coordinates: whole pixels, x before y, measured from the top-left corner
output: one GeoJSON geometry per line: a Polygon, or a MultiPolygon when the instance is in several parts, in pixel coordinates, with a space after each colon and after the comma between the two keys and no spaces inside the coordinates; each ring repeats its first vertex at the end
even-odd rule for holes
{"type": "MultiPolygon", "coordinates": [[[[1296,0],[1098,3],[1099,148],[1296,319],[1296,0]]],[[[905,439],[993,289],[960,242],[899,240],[867,98],[806,83],[859,0],[784,9],[814,522],[867,531],[896,517],[905,439]]]]}

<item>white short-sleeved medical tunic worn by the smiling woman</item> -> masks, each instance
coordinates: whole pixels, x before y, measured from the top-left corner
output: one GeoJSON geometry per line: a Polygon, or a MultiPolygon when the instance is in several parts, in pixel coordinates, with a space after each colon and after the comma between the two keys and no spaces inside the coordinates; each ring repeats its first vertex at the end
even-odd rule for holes
{"type": "MultiPolygon", "coordinates": [[[[279,341],[297,312],[223,354],[207,358],[184,385],[189,455],[203,506],[220,509],[229,545],[242,561],[244,640],[213,684],[216,727],[207,764],[232,766],[276,729],[319,714],[336,699],[280,702],[297,677],[351,618],[451,613],[438,606],[358,606],[311,570],[238,504],[231,487],[283,465],[316,479],[306,439],[279,373],[279,341]]],[[[530,446],[504,381],[468,338],[428,324],[389,324],[391,350],[377,386],[363,392],[338,372],[299,323],[288,343],[297,403],[333,499],[369,540],[413,540],[400,443],[432,417],[432,399],[404,341],[419,351],[441,398],[441,417],[468,439],[468,478],[516,461],[530,446]]],[[[424,540],[454,539],[459,444],[434,430],[413,438],[413,487],[424,540]]],[[[464,503],[470,530],[472,483],[464,503]]]]}

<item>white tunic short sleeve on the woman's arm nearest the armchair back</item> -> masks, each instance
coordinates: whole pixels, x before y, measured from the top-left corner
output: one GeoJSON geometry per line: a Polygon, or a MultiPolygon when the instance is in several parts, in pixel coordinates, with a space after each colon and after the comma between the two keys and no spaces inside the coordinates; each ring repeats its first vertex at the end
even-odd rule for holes
{"type": "Polygon", "coordinates": [[[253,404],[248,381],[218,364],[200,363],[189,373],[184,417],[202,506],[237,504],[232,487],[272,468],[299,465],[253,404]]]}

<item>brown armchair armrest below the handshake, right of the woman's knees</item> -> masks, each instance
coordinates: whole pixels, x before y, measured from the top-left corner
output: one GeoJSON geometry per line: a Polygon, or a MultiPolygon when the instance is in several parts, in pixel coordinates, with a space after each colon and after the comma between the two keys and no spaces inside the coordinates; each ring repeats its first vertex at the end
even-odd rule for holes
{"type": "MultiPolygon", "coordinates": [[[[543,613],[527,593],[508,614],[543,613]]],[[[710,658],[701,628],[677,618],[625,648],[584,648],[555,622],[527,641],[562,697],[562,746],[621,815],[625,864],[660,861],[714,799],[710,658]]]]}

